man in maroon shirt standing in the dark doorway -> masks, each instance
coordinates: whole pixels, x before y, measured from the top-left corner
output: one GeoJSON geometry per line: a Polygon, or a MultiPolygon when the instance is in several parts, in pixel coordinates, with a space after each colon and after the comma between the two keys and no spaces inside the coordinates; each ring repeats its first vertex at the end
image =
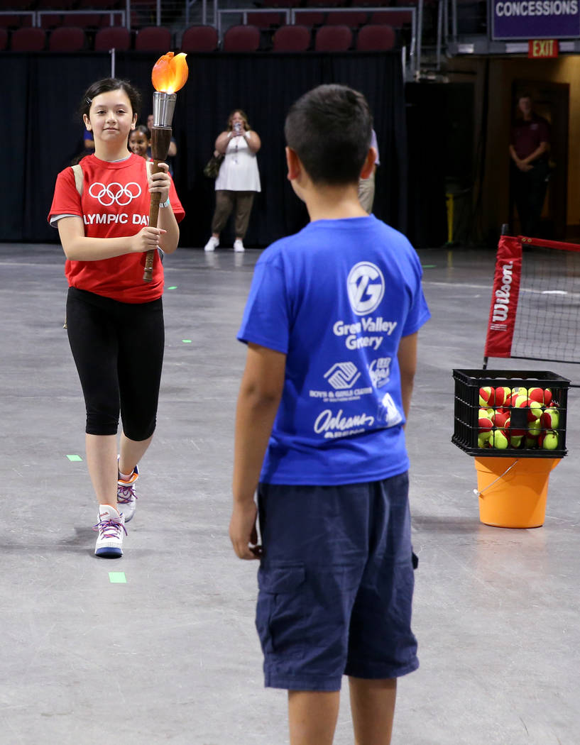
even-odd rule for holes
{"type": "Polygon", "coordinates": [[[517,99],[519,118],[511,128],[511,188],[522,235],[535,236],[548,188],[549,124],[535,114],[532,98],[517,99]]]}

